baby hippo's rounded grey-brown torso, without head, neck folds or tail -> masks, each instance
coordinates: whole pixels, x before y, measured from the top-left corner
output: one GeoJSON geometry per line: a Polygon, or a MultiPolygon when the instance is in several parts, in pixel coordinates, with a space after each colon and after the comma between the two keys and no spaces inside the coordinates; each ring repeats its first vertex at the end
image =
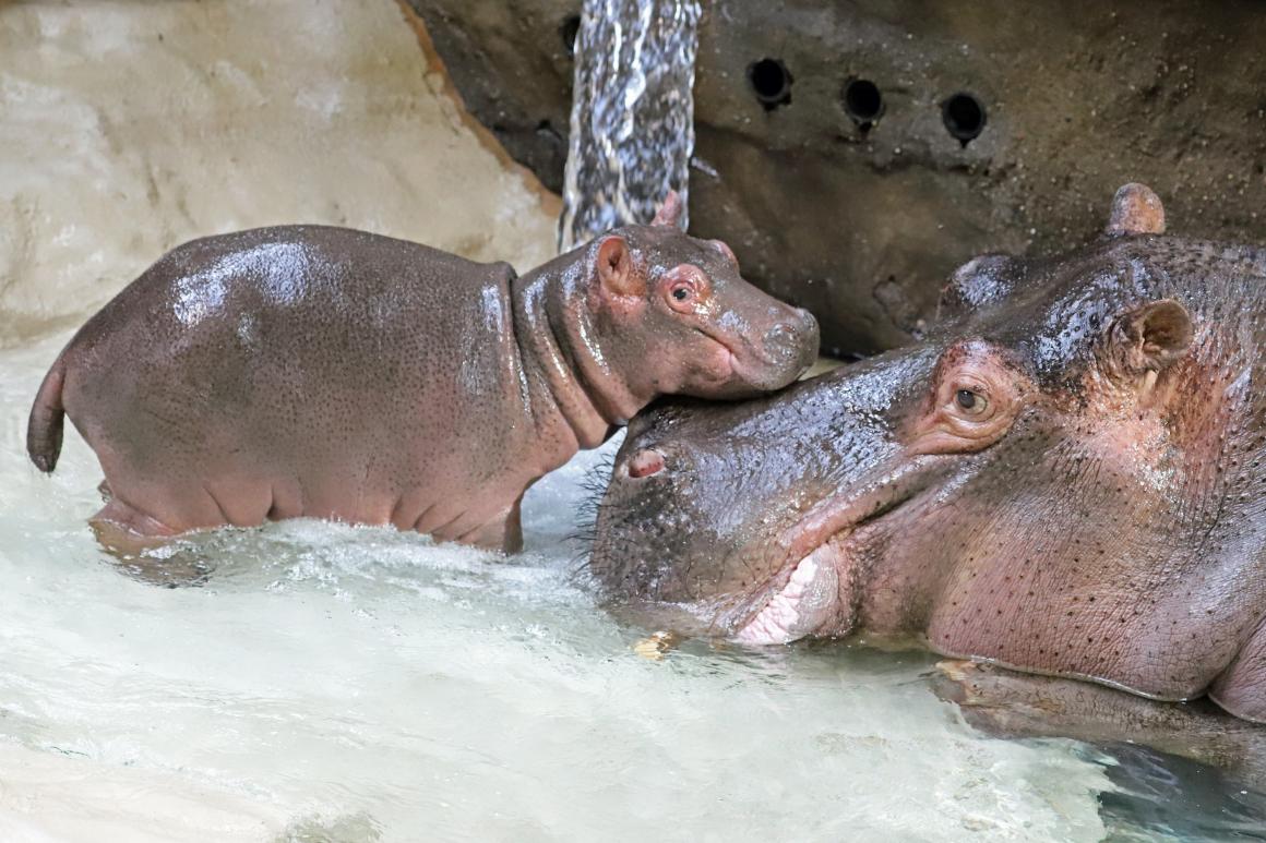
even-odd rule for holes
{"type": "Polygon", "coordinates": [[[195,240],[75,337],[66,413],[116,516],[179,533],[310,515],[461,538],[494,515],[471,497],[504,478],[508,420],[528,414],[513,277],[339,228],[195,240]]]}

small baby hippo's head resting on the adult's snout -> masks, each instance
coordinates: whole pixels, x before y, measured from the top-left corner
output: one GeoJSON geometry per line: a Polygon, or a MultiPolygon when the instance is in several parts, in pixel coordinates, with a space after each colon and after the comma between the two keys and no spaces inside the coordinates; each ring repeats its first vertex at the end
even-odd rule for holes
{"type": "Polygon", "coordinates": [[[647,396],[730,399],[786,386],[817,357],[817,320],[744,281],[720,240],[684,234],[680,209],[670,194],[651,225],[589,246],[605,362],[647,396]]]}

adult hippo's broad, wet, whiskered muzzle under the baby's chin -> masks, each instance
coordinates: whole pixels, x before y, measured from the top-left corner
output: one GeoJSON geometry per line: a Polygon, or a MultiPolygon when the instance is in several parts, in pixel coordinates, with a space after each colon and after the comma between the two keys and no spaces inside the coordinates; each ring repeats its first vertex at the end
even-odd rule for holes
{"type": "Polygon", "coordinates": [[[613,596],[674,604],[711,634],[781,643],[847,632],[851,538],[943,462],[899,462],[894,424],[894,406],[912,400],[903,385],[934,361],[920,349],[772,399],[674,401],[634,419],[592,570],[613,596]]]}

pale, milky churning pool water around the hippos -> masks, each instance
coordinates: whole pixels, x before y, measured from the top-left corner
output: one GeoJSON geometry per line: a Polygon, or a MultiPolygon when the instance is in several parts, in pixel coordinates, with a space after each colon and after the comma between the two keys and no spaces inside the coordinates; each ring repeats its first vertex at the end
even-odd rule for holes
{"type": "MultiPolygon", "coordinates": [[[[633,649],[575,576],[582,456],[506,559],[292,521],[125,576],[25,414],[60,340],[0,352],[0,839],[1096,840],[1094,753],[977,737],[922,654],[633,649]]],[[[610,451],[610,448],[608,448],[610,451]]]]}

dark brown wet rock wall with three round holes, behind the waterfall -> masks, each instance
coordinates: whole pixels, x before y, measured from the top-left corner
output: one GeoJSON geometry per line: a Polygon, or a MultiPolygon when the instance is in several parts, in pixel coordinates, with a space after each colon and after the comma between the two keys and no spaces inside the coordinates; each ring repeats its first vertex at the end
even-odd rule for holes
{"type": "MultiPolygon", "coordinates": [[[[466,104],[562,185],[577,0],[409,0],[466,104]]],[[[714,0],[691,230],[812,309],[829,352],[919,335],[974,254],[1044,254],[1150,184],[1184,232],[1266,239],[1260,3],[714,0]]]]}

